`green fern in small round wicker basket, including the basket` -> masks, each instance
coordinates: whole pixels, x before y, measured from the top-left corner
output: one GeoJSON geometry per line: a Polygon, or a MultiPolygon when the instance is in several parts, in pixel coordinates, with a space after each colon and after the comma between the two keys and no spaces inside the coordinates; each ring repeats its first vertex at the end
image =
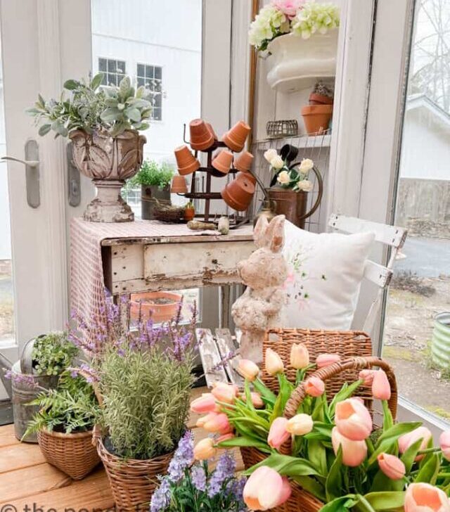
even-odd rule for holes
{"type": "Polygon", "coordinates": [[[31,402],[39,411],[24,438],[37,435],[46,461],[74,480],[81,480],[100,462],[92,444],[98,402],[91,384],[66,372],[58,387],[42,390],[31,402]]]}

